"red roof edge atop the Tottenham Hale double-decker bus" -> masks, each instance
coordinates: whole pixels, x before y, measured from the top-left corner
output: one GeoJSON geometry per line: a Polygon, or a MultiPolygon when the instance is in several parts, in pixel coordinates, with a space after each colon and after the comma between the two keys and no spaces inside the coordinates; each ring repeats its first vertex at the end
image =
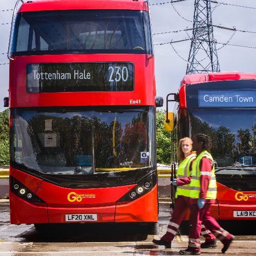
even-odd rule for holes
{"type": "Polygon", "coordinates": [[[25,2],[19,12],[51,10],[145,10],[144,0],[39,0],[25,2]]]}

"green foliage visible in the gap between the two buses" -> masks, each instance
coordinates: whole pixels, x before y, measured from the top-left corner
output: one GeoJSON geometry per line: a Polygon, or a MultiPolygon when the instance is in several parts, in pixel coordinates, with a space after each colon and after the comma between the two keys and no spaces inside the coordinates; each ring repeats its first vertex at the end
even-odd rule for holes
{"type": "Polygon", "coordinates": [[[157,163],[169,165],[172,133],[164,130],[165,113],[162,110],[156,112],[157,163]]]}

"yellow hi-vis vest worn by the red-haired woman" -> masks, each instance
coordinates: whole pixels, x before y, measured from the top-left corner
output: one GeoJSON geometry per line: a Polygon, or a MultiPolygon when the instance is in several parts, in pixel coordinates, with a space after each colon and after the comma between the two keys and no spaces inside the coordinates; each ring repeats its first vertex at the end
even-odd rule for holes
{"type": "MultiPolygon", "coordinates": [[[[177,170],[177,178],[182,179],[190,176],[190,163],[192,160],[194,160],[197,156],[195,154],[191,154],[187,156],[180,164],[179,168],[177,170]]],[[[177,186],[175,198],[178,196],[184,196],[184,197],[189,197],[189,187],[190,184],[188,185],[183,185],[183,186],[177,186]]]]}

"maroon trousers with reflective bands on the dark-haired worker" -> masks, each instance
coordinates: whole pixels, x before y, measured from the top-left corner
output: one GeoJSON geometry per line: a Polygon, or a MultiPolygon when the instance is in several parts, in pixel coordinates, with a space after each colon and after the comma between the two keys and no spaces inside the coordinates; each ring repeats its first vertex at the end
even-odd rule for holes
{"type": "Polygon", "coordinates": [[[209,230],[214,233],[223,244],[226,244],[232,235],[224,230],[219,223],[210,216],[210,204],[205,203],[202,209],[198,208],[197,204],[192,204],[189,216],[188,229],[188,249],[191,251],[200,251],[200,232],[201,224],[203,223],[209,230]]]}

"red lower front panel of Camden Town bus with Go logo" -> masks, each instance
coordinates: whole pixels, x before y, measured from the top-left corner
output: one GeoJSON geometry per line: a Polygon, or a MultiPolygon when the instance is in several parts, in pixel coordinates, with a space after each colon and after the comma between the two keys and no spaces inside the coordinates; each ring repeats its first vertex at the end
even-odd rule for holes
{"type": "MultiPolygon", "coordinates": [[[[218,182],[217,190],[217,199],[220,207],[220,220],[256,219],[256,192],[233,190],[218,182]],[[236,211],[248,211],[248,214],[251,212],[251,216],[239,217],[238,214],[236,214],[236,211]],[[234,215],[236,217],[234,217],[234,215]]],[[[241,215],[241,213],[239,213],[239,215],[241,215]]]]}

